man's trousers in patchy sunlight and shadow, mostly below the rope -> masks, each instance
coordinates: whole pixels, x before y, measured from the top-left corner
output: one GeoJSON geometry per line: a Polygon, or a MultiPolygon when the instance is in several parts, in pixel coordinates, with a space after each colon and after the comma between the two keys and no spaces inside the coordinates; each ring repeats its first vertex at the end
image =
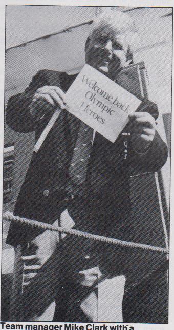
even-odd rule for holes
{"type": "MultiPolygon", "coordinates": [[[[74,226],[67,209],[59,224],[74,226]]],[[[95,242],[48,230],[17,245],[9,320],[122,322],[125,276],[101,259],[95,242]]]]}

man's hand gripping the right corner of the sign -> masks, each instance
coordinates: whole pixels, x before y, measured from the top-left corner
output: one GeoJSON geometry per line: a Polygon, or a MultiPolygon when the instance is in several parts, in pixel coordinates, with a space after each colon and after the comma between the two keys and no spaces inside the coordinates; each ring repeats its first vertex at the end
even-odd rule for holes
{"type": "Polygon", "coordinates": [[[129,114],[132,146],[137,152],[143,153],[155,137],[156,123],[148,112],[129,114]]]}

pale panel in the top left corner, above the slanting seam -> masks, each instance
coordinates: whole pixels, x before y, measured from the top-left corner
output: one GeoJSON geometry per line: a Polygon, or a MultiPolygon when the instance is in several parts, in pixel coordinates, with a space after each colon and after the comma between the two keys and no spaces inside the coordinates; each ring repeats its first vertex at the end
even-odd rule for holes
{"type": "Polygon", "coordinates": [[[6,48],[93,20],[95,7],[7,6],[6,48]]]}

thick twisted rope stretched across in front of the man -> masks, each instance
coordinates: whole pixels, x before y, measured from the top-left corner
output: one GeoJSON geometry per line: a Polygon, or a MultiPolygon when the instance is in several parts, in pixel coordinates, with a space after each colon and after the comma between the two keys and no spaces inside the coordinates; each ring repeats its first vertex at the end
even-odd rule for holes
{"type": "Polygon", "coordinates": [[[135,242],[122,241],[122,240],[119,240],[116,238],[95,235],[95,234],[91,234],[90,232],[84,232],[84,231],[80,231],[77,229],[66,229],[66,228],[62,228],[62,227],[55,227],[48,223],[14,216],[13,213],[11,213],[11,212],[4,212],[3,219],[5,219],[7,221],[12,220],[12,221],[18,222],[20,224],[29,225],[31,227],[37,227],[40,229],[46,229],[46,230],[50,230],[50,231],[57,231],[57,232],[61,232],[63,234],[75,235],[78,237],[84,237],[84,238],[88,238],[90,240],[100,241],[103,243],[115,244],[115,245],[129,247],[129,248],[140,248],[143,250],[155,251],[155,252],[168,254],[168,249],[163,248],[163,247],[135,243],[135,242]]]}

